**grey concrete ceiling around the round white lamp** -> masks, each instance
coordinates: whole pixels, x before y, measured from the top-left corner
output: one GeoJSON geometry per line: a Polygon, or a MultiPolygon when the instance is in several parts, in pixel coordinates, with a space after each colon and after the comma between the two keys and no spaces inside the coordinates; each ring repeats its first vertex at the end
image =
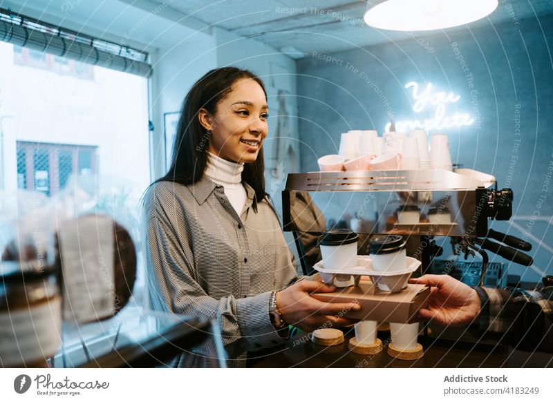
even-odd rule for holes
{"type": "MultiPolygon", "coordinates": [[[[167,0],[149,1],[167,4],[167,0]]],[[[352,0],[173,0],[168,4],[183,15],[238,35],[254,37],[277,50],[287,50],[291,46],[305,54],[337,52],[412,37],[406,32],[366,26],[363,21],[366,3],[352,0]]],[[[511,21],[512,17],[535,19],[547,14],[553,14],[552,0],[500,1],[498,8],[486,19],[449,30],[502,23],[511,21]]],[[[417,33],[420,36],[435,34],[417,33]]]]}

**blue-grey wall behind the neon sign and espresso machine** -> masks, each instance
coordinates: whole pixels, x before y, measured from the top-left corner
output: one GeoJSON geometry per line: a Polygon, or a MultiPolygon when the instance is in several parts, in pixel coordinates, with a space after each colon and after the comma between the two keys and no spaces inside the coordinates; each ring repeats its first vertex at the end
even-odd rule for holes
{"type": "Polygon", "coordinates": [[[498,186],[514,190],[515,220],[494,228],[527,232],[537,268],[515,269],[539,280],[552,272],[553,248],[541,243],[553,244],[545,221],[553,215],[553,182],[545,177],[553,171],[552,27],[550,15],[300,60],[301,171],[318,170],[317,157],[337,153],[344,131],[382,135],[388,112],[399,120],[431,117],[433,111],[413,114],[407,82],[453,91],[461,99],[447,106],[450,113],[476,119],[440,130],[449,135],[453,163],[491,173],[498,186]]]}

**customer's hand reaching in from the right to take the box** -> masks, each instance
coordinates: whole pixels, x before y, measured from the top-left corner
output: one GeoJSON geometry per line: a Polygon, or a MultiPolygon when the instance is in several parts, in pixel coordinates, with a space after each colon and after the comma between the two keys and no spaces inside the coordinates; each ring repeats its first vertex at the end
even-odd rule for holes
{"type": "Polygon", "coordinates": [[[466,325],[480,314],[480,297],[476,290],[449,275],[423,275],[409,283],[429,285],[427,306],[420,318],[433,319],[441,325],[466,325]]]}

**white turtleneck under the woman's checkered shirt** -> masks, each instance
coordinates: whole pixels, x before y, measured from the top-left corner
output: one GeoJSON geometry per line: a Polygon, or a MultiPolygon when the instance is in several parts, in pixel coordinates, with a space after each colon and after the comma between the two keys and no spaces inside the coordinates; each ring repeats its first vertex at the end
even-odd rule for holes
{"type": "Polygon", "coordinates": [[[243,170],[243,163],[229,162],[211,152],[207,152],[205,175],[225,188],[225,195],[227,195],[238,216],[242,213],[247,197],[246,189],[242,185],[243,170]]]}

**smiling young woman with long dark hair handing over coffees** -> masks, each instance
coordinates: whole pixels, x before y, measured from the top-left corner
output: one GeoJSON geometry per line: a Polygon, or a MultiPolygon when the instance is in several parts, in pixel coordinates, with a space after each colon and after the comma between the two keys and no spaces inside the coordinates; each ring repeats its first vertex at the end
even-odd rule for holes
{"type": "MultiPolygon", "coordinates": [[[[169,172],[144,198],[150,306],[218,320],[231,367],[281,343],[288,324],[347,325],[340,312],[360,308],[319,302],[312,292],[334,289],[297,277],[265,193],[267,119],[259,77],[209,71],[185,98],[169,172]]],[[[214,351],[210,338],[171,365],[216,365],[214,351]]]]}

